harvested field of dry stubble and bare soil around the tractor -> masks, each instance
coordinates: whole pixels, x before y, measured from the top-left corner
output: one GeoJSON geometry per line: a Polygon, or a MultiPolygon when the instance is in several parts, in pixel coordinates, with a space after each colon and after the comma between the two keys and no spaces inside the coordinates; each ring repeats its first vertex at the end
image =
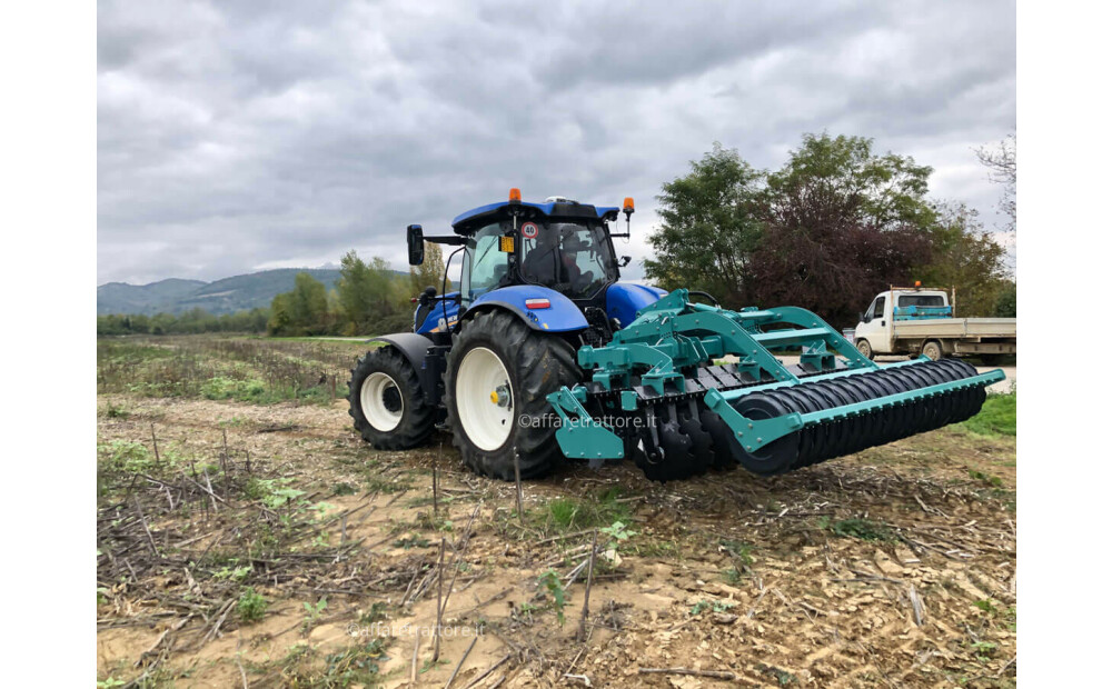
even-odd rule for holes
{"type": "Polygon", "coordinates": [[[446,435],[358,438],[365,347],[99,341],[98,686],[1015,685],[1014,393],[772,479],[569,463],[519,509],[446,435]]]}

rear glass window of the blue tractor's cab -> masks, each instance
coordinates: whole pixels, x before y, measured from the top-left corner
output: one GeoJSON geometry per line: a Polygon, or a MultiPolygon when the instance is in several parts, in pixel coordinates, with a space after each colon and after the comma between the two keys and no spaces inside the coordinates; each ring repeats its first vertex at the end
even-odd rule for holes
{"type": "MultiPolygon", "coordinates": [[[[523,228],[524,229],[524,228],[523,228]]],[[[586,299],[617,280],[616,261],[600,223],[550,222],[522,238],[522,277],[586,299]]]]}

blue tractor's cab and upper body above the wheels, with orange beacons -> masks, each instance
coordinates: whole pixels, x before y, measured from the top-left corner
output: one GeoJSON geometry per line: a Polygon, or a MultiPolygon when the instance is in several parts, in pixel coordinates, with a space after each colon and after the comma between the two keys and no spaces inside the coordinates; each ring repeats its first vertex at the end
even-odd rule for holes
{"type": "Polygon", "coordinates": [[[530,328],[578,332],[585,342],[608,341],[616,329],[636,318],[638,309],[655,302],[663,290],[619,283],[619,269],[629,262],[614,253],[614,237],[629,237],[633,199],[617,207],[596,207],[564,197],[543,203],[523,202],[512,189],[509,199],[480,206],[451,221],[453,234],[425,237],[420,226],[408,232],[409,262],[424,260],[424,242],[458,247],[460,289],[446,297],[421,298],[433,304],[418,317],[415,331],[439,337],[455,332],[465,313],[502,308],[525,318],[530,328]],[[626,231],[614,233],[610,222],[625,213],[626,231]]]}

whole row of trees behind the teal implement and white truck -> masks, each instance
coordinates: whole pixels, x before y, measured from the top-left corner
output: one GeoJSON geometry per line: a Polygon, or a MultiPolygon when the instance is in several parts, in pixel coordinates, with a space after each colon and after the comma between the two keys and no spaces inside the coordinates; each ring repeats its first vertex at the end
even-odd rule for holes
{"type": "Polygon", "coordinates": [[[822,133],[805,134],[775,171],[717,143],[691,167],[657,197],[645,272],[664,289],[704,290],[732,308],[798,306],[843,327],[877,292],[919,280],[956,288],[963,316],[1015,314],[1004,248],[975,210],[931,199],[932,169],[911,157],[822,133]]]}

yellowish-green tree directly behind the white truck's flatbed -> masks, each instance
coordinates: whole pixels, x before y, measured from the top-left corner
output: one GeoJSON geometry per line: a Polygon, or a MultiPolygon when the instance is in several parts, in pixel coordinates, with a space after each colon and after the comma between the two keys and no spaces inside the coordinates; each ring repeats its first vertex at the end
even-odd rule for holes
{"type": "Polygon", "coordinates": [[[1004,248],[984,231],[976,210],[940,203],[931,227],[931,261],[914,271],[932,287],[953,287],[961,316],[992,316],[1004,286],[1004,248]]]}

